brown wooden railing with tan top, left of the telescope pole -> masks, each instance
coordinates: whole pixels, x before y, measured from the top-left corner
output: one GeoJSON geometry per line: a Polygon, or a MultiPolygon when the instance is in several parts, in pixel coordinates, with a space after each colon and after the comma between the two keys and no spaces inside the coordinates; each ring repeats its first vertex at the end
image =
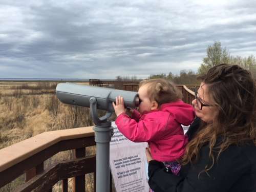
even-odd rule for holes
{"type": "Polygon", "coordinates": [[[96,183],[96,156],[86,156],[86,147],[93,145],[92,127],[81,127],[45,132],[3,148],[0,150],[0,187],[25,173],[25,183],[15,191],[52,191],[52,186],[60,180],[62,191],[68,191],[68,178],[73,178],[73,191],[85,191],[86,174],[94,173],[96,183]],[[73,159],[44,169],[44,161],[67,150],[73,150],[73,159]]]}

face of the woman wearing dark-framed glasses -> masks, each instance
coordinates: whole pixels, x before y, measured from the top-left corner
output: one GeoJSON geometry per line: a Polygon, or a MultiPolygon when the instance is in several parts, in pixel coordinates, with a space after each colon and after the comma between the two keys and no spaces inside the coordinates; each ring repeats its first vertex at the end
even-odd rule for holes
{"type": "Polygon", "coordinates": [[[216,106],[212,105],[214,102],[208,95],[208,86],[204,82],[200,84],[200,88],[197,91],[197,99],[192,101],[195,108],[196,116],[202,119],[206,123],[210,123],[214,120],[214,117],[218,113],[216,106]],[[206,105],[206,106],[202,106],[206,105]],[[201,109],[202,106],[202,109],[201,109]],[[201,110],[200,110],[201,109],[201,110]]]}

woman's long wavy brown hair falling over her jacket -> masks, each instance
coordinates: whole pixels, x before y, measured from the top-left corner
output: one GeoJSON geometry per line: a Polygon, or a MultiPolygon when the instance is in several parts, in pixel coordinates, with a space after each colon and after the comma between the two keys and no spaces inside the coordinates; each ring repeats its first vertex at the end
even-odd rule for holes
{"type": "Polygon", "coordinates": [[[230,145],[256,145],[256,86],[251,73],[238,65],[221,64],[209,69],[200,79],[207,85],[206,94],[218,110],[211,123],[202,123],[200,131],[187,144],[183,164],[194,163],[200,148],[209,145],[211,164],[230,145]]]}

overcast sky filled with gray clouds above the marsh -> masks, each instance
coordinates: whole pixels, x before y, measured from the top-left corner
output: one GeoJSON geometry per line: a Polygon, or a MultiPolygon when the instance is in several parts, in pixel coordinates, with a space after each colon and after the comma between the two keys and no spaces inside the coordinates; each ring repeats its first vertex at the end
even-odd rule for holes
{"type": "Polygon", "coordinates": [[[0,78],[197,72],[208,46],[256,56],[255,0],[0,0],[0,78]]]}

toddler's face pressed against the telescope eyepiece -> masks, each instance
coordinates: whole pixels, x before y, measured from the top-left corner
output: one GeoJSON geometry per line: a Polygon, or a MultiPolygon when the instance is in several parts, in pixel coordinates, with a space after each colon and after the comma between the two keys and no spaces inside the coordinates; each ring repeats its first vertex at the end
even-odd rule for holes
{"type": "Polygon", "coordinates": [[[154,101],[152,102],[150,98],[147,95],[147,85],[140,87],[139,91],[139,98],[141,100],[139,105],[139,112],[142,114],[144,112],[150,112],[151,110],[154,110],[154,101]]]}

